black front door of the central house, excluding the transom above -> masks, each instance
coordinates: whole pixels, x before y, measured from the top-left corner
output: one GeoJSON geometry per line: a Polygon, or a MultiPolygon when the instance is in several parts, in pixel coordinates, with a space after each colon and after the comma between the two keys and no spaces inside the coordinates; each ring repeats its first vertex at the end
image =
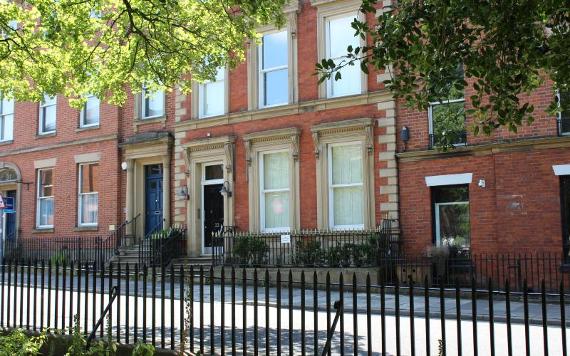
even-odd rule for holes
{"type": "Polygon", "coordinates": [[[212,253],[213,235],[224,224],[221,184],[204,185],[204,253],[212,253]]]}

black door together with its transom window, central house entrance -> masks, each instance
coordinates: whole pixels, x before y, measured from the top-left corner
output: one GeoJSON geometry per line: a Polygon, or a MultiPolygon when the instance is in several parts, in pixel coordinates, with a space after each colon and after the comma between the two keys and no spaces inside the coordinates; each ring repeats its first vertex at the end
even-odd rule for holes
{"type": "Polygon", "coordinates": [[[211,255],[214,235],[224,226],[224,183],[221,163],[204,164],[202,169],[202,254],[211,255]]]}

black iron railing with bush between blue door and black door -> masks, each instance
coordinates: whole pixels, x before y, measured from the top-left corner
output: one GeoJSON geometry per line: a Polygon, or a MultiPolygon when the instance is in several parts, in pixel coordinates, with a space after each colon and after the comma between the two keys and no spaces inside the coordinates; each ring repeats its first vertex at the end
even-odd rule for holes
{"type": "Polygon", "coordinates": [[[186,227],[164,228],[164,221],[149,232],[139,244],[141,266],[167,266],[173,258],[184,255],[186,227]]]}

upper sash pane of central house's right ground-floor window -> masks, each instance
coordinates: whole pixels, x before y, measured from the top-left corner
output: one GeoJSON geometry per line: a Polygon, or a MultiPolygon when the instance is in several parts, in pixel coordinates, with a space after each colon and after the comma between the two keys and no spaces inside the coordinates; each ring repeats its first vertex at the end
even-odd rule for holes
{"type": "Polygon", "coordinates": [[[332,147],[332,184],[362,183],[362,147],[332,147]]]}

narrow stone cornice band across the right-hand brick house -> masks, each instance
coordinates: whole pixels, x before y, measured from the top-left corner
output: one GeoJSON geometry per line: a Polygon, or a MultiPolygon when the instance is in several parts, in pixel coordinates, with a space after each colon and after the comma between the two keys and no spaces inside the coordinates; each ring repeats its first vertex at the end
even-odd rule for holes
{"type": "Polygon", "coordinates": [[[540,137],[518,139],[508,142],[486,143],[474,146],[457,147],[451,151],[422,150],[396,153],[400,162],[414,162],[428,159],[452,157],[485,156],[501,152],[543,150],[551,148],[570,148],[570,137],[540,137]]]}

